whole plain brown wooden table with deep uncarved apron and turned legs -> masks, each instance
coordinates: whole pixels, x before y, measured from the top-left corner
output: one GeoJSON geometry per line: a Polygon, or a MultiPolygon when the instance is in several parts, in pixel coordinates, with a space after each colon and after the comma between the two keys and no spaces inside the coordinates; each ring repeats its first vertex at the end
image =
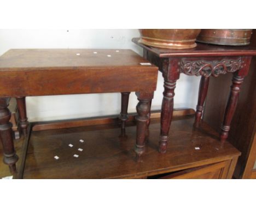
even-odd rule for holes
{"type": "Polygon", "coordinates": [[[120,118],[127,119],[130,91],[138,97],[136,155],[144,151],[150,101],[156,89],[158,68],[131,50],[24,49],[0,57],[0,136],[4,163],[15,172],[9,97],[16,97],[21,128],[26,134],[25,97],[87,93],[122,93],[120,118]]]}

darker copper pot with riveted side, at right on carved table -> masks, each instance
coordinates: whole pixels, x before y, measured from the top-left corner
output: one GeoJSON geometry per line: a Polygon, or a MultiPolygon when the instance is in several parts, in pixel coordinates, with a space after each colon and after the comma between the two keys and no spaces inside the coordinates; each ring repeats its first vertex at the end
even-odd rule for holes
{"type": "Polygon", "coordinates": [[[197,42],[217,45],[249,45],[252,29],[202,29],[197,42]]]}

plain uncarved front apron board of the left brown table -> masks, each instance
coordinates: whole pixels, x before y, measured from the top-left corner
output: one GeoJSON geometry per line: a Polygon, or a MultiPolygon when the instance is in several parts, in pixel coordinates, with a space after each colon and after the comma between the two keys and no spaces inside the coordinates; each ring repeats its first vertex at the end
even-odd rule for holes
{"type": "Polygon", "coordinates": [[[158,68],[1,71],[0,97],[155,91],[158,68]]]}

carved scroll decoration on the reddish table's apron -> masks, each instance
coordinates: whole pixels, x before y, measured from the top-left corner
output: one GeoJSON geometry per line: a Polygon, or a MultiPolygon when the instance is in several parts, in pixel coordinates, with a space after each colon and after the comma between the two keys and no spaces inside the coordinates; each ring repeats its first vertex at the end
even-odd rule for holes
{"type": "Polygon", "coordinates": [[[223,60],[186,60],[182,59],[180,63],[181,72],[186,75],[196,75],[196,76],[205,76],[214,77],[219,76],[220,74],[226,74],[227,72],[235,72],[242,68],[242,58],[239,57],[235,60],[232,59],[223,59],[223,60]]]}

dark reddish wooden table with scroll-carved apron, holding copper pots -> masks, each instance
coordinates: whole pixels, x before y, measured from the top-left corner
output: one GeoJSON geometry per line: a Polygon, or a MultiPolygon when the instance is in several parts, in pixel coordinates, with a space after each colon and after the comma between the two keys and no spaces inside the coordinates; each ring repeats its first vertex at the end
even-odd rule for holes
{"type": "Polygon", "coordinates": [[[248,74],[252,56],[256,56],[256,47],[197,44],[197,47],[187,50],[168,50],[149,47],[140,44],[138,40],[139,38],[132,39],[135,44],[143,47],[144,58],[159,66],[159,70],[164,77],[159,151],[166,151],[168,132],[172,120],[174,89],[181,73],[201,76],[195,115],[196,127],[200,125],[209,77],[217,77],[227,72],[233,73],[231,91],[220,132],[220,140],[224,142],[228,138],[230,123],[235,112],[243,79],[248,74]]]}

